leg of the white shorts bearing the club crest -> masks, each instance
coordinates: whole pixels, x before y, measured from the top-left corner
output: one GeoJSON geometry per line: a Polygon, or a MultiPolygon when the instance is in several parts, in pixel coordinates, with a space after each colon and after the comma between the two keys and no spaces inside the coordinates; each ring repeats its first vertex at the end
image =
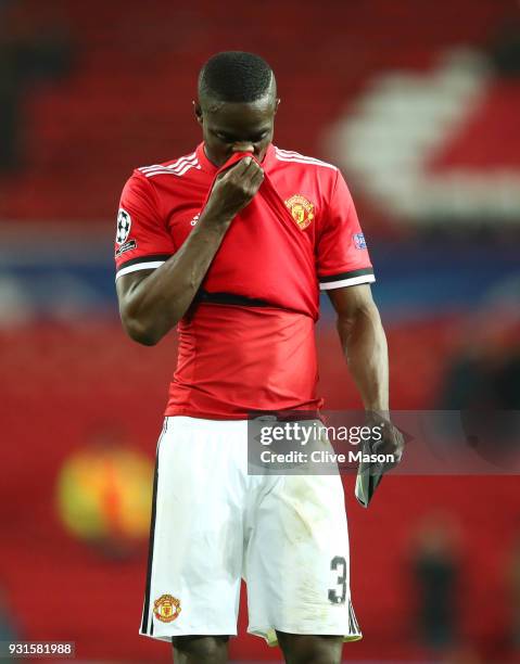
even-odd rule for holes
{"type": "Polygon", "coordinates": [[[167,639],[237,633],[243,483],[238,440],[221,424],[166,420],[141,634],[167,639]]]}

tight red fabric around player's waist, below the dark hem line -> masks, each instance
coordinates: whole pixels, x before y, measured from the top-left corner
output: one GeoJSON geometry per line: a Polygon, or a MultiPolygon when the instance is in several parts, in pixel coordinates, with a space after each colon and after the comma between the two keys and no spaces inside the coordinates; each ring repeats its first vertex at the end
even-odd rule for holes
{"type": "Polygon", "coordinates": [[[166,414],[244,419],[254,410],[316,410],[314,321],[278,308],[201,305],[179,324],[166,414]]]}

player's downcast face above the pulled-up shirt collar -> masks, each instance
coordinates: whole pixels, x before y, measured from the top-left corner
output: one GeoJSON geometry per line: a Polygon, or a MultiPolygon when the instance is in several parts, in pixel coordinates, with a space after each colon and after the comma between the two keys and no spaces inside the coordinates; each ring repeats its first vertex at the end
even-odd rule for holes
{"type": "Polygon", "coordinates": [[[272,141],[278,102],[269,93],[250,103],[195,104],[207,158],[221,166],[233,152],[252,152],[262,162],[272,141]]]}

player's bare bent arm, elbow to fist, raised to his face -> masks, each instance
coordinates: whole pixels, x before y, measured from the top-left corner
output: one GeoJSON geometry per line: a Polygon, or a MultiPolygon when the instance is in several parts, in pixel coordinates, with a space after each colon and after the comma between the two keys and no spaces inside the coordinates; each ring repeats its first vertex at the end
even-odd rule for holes
{"type": "Polygon", "coordinates": [[[151,272],[117,280],[123,327],[135,341],[156,344],[188,310],[236,215],[258,191],[264,174],[246,157],[216,181],[196,227],[180,250],[151,272]]]}

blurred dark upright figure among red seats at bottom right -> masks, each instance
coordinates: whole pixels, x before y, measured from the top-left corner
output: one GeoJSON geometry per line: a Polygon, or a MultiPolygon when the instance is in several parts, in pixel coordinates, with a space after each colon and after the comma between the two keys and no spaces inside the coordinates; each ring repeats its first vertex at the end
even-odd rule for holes
{"type": "Polygon", "coordinates": [[[418,636],[435,651],[456,642],[459,561],[455,532],[444,515],[431,514],[415,540],[413,574],[417,590],[418,636]]]}

